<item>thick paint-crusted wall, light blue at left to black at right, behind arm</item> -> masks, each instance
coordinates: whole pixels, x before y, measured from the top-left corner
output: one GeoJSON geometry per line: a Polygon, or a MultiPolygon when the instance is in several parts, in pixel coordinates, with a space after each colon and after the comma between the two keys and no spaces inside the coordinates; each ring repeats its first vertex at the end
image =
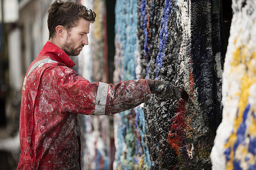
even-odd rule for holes
{"type": "Polygon", "coordinates": [[[115,115],[114,167],[210,169],[222,112],[220,2],[118,0],[115,14],[115,82],[166,80],[191,99],[152,95],[115,115]]]}

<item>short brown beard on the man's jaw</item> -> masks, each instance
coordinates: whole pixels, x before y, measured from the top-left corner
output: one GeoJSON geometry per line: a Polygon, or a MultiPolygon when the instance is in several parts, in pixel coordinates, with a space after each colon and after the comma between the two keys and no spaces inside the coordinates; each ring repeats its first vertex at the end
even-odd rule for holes
{"type": "Polygon", "coordinates": [[[80,44],[79,46],[76,45],[76,42],[70,37],[67,37],[67,40],[64,42],[64,45],[61,49],[68,55],[68,56],[78,56],[81,52],[80,48],[83,48],[84,44],[80,44]]]}

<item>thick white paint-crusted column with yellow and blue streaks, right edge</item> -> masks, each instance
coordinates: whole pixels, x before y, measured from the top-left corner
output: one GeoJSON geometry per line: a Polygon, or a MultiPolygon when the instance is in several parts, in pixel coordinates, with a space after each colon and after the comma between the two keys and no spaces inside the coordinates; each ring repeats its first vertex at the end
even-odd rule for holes
{"type": "Polygon", "coordinates": [[[256,2],[232,1],[225,58],[223,118],[211,154],[213,169],[256,169],[256,2]]]}

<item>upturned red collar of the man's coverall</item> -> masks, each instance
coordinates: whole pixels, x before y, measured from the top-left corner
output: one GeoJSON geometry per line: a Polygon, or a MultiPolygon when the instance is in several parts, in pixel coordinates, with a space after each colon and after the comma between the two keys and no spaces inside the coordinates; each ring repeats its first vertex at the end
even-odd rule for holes
{"type": "Polygon", "coordinates": [[[75,66],[75,62],[62,50],[59,46],[47,41],[44,44],[43,49],[40,52],[40,56],[49,56],[51,59],[57,62],[64,63],[64,65],[72,68],[75,66]]]}

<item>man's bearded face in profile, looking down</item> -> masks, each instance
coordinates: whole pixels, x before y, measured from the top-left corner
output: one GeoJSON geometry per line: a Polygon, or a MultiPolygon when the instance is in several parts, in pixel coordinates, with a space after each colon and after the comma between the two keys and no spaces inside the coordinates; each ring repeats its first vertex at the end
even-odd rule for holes
{"type": "Polygon", "coordinates": [[[64,50],[68,56],[78,56],[84,47],[88,45],[88,33],[90,22],[85,19],[79,19],[76,27],[72,27],[67,32],[67,37],[62,45],[61,49],[64,50]]]}

